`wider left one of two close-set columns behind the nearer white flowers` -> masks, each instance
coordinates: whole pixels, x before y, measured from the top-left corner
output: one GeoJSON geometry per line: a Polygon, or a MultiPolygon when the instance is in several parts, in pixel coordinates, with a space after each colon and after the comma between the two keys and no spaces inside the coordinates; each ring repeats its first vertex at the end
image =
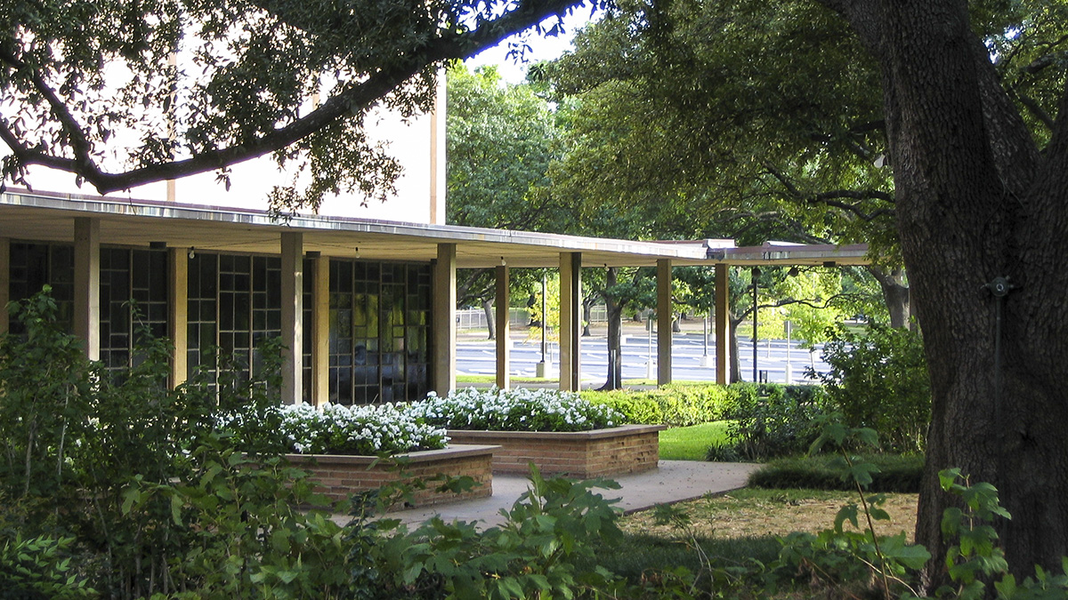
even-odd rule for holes
{"type": "Polygon", "coordinates": [[[282,401],[303,401],[304,234],[282,234],[282,401]]]}

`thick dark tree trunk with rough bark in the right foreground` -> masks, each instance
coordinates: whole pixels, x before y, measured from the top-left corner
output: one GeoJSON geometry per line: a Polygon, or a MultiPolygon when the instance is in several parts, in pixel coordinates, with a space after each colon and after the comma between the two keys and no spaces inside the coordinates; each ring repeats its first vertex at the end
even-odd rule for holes
{"type": "Polygon", "coordinates": [[[963,0],[824,0],[881,64],[901,250],[932,411],[916,539],[944,580],[939,526],[959,467],[1000,491],[1014,572],[1068,553],[1068,107],[1039,155],[968,26],[963,0]],[[1020,285],[998,299],[985,284],[1020,285]],[[1004,314],[999,325],[999,302],[1004,314]],[[1001,332],[1000,358],[995,336],[1001,332]]]}

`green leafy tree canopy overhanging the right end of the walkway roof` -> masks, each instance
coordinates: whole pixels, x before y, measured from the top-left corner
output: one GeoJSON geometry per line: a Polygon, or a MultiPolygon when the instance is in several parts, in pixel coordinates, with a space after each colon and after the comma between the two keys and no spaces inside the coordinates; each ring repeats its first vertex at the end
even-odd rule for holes
{"type": "Polygon", "coordinates": [[[541,74],[588,99],[569,159],[597,202],[651,193],[743,220],[717,225],[729,237],[870,242],[891,322],[909,322],[878,78],[842,22],[807,2],[625,3],[576,45],[541,74]]]}

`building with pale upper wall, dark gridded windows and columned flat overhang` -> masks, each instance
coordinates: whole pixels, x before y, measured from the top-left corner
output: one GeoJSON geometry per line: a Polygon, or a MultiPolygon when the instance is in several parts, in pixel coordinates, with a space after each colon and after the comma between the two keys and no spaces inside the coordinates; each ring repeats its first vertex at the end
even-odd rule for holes
{"type": "MultiPolygon", "coordinates": [[[[456,268],[496,269],[501,332],[509,269],[560,268],[560,385],[575,390],[583,267],[658,268],[658,379],[666,382],[673,265],[717,264],[725,282],[731,264],[791,260],[789,249],[733,249],[729,240],[640,242],[445,225],[443,97],[438,106],[408,129],[386,123],[379,132],[406,144],[400,193],[381,206],[339,198],[319,215],[276,220],[252,207],[266,204],[272,176],[256,164],[235,168],[230,192],[204,175],[109,198],[70,193],[54,173],[32,173],[36,190],[51,191],[0,193],[0,307],[51,285],[62,318],[89,357],[109,368],[136,360],[137,311],[173,341],[174,384],[206,364],[216,346],[235,356],[238,368],[255,369],[257,344],[280,337],[286,401],[362,404],[455,386],[456,268]]],[[[810,264],[857,262],[864,251],[808,254],[810,264]]],[[[725,320],[717,331],[725,335],[725,320]]],[[[506,388],[507,335],[498,340],[498,384],[506,388]]],[[[718,345],[721,381],[725,347],[718,345]]]]}

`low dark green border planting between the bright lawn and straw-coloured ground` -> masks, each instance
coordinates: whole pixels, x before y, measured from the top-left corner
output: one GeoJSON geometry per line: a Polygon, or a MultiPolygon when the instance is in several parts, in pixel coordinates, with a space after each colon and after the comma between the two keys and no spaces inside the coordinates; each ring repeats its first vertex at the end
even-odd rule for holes
{"type": "MultiPolygon", "coordinates": [[[[917,493],[923,477],[924,457],[920,455],[863,455],[864,462],[878,469],[871,473],[868,490],[873,492],[917,493]]],[[[780,458],[768,462],[749,476],[749,485],[772,489],[853,490],[845,468],[833,456],[780,458]]]]}

